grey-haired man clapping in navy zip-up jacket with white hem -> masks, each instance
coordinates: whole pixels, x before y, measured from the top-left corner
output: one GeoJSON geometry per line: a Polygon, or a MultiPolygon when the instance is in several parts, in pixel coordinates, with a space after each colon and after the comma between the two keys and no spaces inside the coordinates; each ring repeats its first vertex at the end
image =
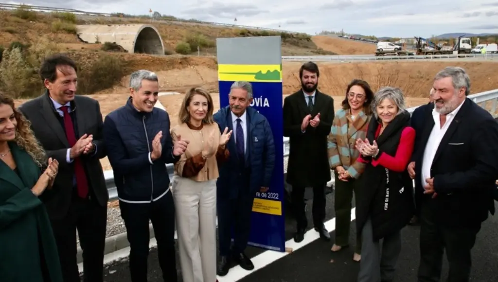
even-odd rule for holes
{"type": "Polygon", "coordinates": [[[163,279],[177,281],[175,207],[165,164],[177,162],[188,141],[179,136],[173,144],[168,113],[154,108],[159,83],[153,72],[132,73],[129,90],[126,104],[106,117],[104,141],[130,245],[131,281],[147,281],[149,220],[163,279]]]}

